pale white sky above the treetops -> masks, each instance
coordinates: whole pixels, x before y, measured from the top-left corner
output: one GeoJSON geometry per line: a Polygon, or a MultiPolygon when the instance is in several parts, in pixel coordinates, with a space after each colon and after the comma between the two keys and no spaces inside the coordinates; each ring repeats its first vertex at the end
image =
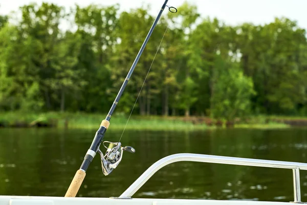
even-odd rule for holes
{"type": "MultiPolygon", "coordinates": [[[[185,0],[169,0],[169,6],[179,7],[185,0]]],[[[91,3],[100,5],[120,4],[121,10],[138,8],[142,4],[151,5],[150,13],[158,14],[164,0],[0,0],[0,15],[17,11],[19,6],[30,2],[52,2],[65,8],[74,4],[87,6],[91,3]]],[[[285,16],[297,20],[298,26],[307,29],[307,0],[188,0],[198,6],[199,13],[203,16],[217,17],[230,25],[244,22],[266,24],[274,17],[285,16]]],[[[165,15],[165,13],[164,13],[165,15]]]]}

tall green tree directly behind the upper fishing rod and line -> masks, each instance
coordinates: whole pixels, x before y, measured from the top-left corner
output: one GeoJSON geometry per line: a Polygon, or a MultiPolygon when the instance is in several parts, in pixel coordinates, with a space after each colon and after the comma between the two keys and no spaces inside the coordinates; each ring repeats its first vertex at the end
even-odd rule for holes
{"type": "MultiPolygon", "coordinates": [[[[119,17],[118,37],[120,43],[115,47],[115,55],[113,57],[116,69],[112,69],[111,71],[111,77],[114,80],[113,87],[116,88],[116,90],[114,89],[112,91],[114,94],[116,94],[120,88],[153,23],[154,18],[148,14],[147,10],[148,9],[145,8],[139,8],[131,10],[130,12],[123,12],[119,17]],[[131,22],[134,23],[131,24],[131,22]]],[[[123,99],[121,99],[123,103],[121,103],[122,107],[120,109],[122,109],[122,111],[129,112],[133,106],[153,57],[158,49],[164,30],[165,27],[158,25],[155,32],[150,37],[146,49],[135,68],[134,75],[129,81],[129,86],[127,87],[128,92],[125,92],[123,94],[123,99]],[[131,93],[134,94],[131,95],[131,93]]],[[[153,95],[159,93],[159,85],[157,85],[157,82],[159,81],[160,73],[157,74],[157,72],[160,65],[158,60],[152,65],[144,89],[138,99],[138,107],[141,115],[146,114],[146,103],[150,105],[153,95]]],[[[112,98],[114,97],[113,95],[112,98]]],[[[149,108],[150,106],[147,107],[148,113],[150,112],[149,108]]]]}

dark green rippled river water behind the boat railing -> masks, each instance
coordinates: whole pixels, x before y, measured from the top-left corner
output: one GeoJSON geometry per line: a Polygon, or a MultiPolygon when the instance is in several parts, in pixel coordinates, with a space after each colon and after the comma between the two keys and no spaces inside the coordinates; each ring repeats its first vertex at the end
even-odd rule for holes
{"type": "MultiPolygon", "coordinates": [[[[0,129],[0,195],[63,196],[95,132],[0,129]]],[[[110,129],[105,140],[117,141],[120,134],[110,129]]],[[[102,174],[97,155],[78,196],[119,196],[152,163],[175,153],[307,162],[305,128],[125,131],[121,141],[136,153],[124,153],[109,176],[102,174]]],[[[307,201],[307,171],[300,174],[302,201],[307,201]]],[[[134,197],[292,201],[292,170],[177,162],[153,175],[134,197]]]]}

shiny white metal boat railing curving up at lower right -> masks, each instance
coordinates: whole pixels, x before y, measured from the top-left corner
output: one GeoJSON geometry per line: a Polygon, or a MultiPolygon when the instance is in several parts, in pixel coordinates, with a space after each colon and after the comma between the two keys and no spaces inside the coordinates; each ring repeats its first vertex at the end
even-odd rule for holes
{"type": "Polygon", "coordinates": [[[215,155],[206,155],[206,154],[190,154],[190,153],[173,154],[153,163],[153,165],[151,165],[126,191],[124,191],[119,196],[119,198],[129,198],[133,196],[144,185],[144,183],[158,170],[165,167],[166,165],[169,165],[170,163],[177,161],[198,161],[198,162],[222,163],[227,165],[243,165],[243,166],[253,166],[253,167],[292,169],[293,189],[294,189],[293,202],[302,203],[301,194],[300,194],[299,170],[307,170],[307,163],[215,156],[215,155]]]}

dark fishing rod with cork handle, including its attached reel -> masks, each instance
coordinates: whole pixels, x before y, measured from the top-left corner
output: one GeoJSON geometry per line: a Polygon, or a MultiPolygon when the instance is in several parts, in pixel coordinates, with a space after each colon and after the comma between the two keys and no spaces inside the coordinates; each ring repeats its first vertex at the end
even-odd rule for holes
{"type": "MultiPolygon", "coordinates": [[[[146,47],[146,44],[153,32],[153,30],[155,29],[155,27],[157,26],[157,23],[162,15],[162,12],[164,11],[165,7],[168,7],[168,10],[172,13],[176,13],[177,12],[177,9],[174,8],[174,7],[171,7],[171,6],[167,6],[168,0],[165,0],[163,6],[161,7],[161,10],[158,14],[158,16],[156,17],[155,19],[155,22],[153,22],[145,40],[144,40],[144,43],[136,57],[136,59],[134,60],[116,98],[115,98],[115,101],[111,107],[111,109],[109,110],[108,114],[106,115],[105,119],[102,120],[101,124],[100,124],[100,128],[98,129],[98,131],[96,132],[95,134],[95,137],[93,139],[93,142],[92,142],[92,145],[90,147],[89,150],[87,150],[86,154],[85,154],[85,157],[83,159],[83,162],[82,162],[82,165],[80,167],[80,169],[76,172],[72,182],[71,182],[71,185],[69,186],[66,194],[65,194],[65,197],[75,197],[77,192],[79,191],[79,188],[82,184],[82,181],[83,179],[85,178],[85,175],[86,175],[86,170],[87,168],[89,168],[90,166],[90,163],[92,162],[92,160],[94,159],[96,153],[98,152],[100,154],[100,157],[101,157],[101,167],[102,167],[102,172],[103,174],[106,176],[108,175],[109,173],[111,173],[118,165],[119,165],[119,162],[121,161],[122,159],[122,156],[123,156],[123,151],[128,151],[130,153],[135,153],[136,150],[133,148],[133,147],[129,147],[129,146],[126,146],[126,147],[122,147],[121,146],[121,142],[111,142],[111,141],[103,141],[103,137],[104,137],[104,133],[105,131],[107,130],[107,128],[109,127],[110,125],[110,119],[111,119],[111,116],[120,100],[120,97],[122,96],[127,84],[128,84],[128,81],[135,69],[135,67],[137,66],[138,64],[138,61],[146,47]],[[103,141],[103,142],[102,142],[103,141]],[[101,145],[101,142],[102,142],[102,145],[106,148],[106,152],[105,154],[103,154],[99,147],[101,145]],[[106,146],[108,144],[108,146],[106,146]]],[[[146,80],[146,78],[145,78],[146,80]]]]}

